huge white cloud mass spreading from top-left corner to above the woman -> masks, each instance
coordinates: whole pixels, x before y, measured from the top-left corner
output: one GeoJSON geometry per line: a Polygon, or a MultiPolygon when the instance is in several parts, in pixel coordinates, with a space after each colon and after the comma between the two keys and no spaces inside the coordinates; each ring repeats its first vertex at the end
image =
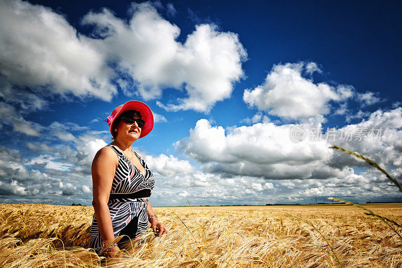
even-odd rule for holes
{"type": "MultiPolygon", "coordinates": [[[[50,8],[2,1],[0,97],[34,109],[48,105],[49,93],[110,101],[117,94],[110,82],[115,79],[125,94],[147,100],[160,98],[164,88],[184,90],[187,96],[176,103],[158,105],[208,112],[229,98],[233,83],[243,77],[246,50],[237,34],[212,24],[197,25],[180,43],[180,29],[163,19],[155,5],[132,4],[128,22],[107,9],[89,12],[82,23],[93,25],[93,36],[100,37],[89,38],[50,8]],[[32,94],[24,93],[25,86],[32,94]]],[[[172,4],[167,12],[174,15],[172,4]]]]}

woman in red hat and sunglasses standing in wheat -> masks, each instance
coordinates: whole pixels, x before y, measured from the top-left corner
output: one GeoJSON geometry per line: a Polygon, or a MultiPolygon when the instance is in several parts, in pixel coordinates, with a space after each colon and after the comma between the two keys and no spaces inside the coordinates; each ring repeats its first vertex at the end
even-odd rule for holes
{"type": "Polygon", "coordinates": [[[153,128],[151,109],[142,102],[129,101],[113,110],[105,121],[113,142],[100,149],[92,162],[95,213],[90,247],[112,257],[120,250],[120,242],[113,243],[119,235],[136,238],[148,229],[148,221],[158,236],[167,230],[148,201],[155,184],[152,172],[142,156],[131,150],[133,142],[153,128]]]}

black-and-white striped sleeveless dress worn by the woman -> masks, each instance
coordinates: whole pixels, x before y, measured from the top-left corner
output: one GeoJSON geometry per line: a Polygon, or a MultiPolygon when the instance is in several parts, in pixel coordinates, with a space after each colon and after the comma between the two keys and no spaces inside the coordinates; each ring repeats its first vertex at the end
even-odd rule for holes
{"type": "MultiPolygon", "coordinates": [[[[149,170],[144,159],[136,152],[134,154],[140,160],[140,163],[145,169],[145,176],[138,170],[138,168],[126,157],[126,155],[118,150],[113,145],[106,145],[111,147],[119,158],[119,164],[116,168],[115,177],[113,179],[112,193],[134,193],[142,189],[153,189],[155,180],[151,170],[149,170]]],[[[135,238],[148,229],[148,215],[147,215],[148,198],[137,199],[119,199],[109,200],[108,207],[110,210],[110,216],[112,218],[112,226],[115,237],[118,237],[124,227],[126,227],[131,221],[138,222],[137,232],[129,235],[131,238],[135,238]]],[[[124,230],[127,233],[127,230],[124,230]]],[[[96,216],[93,214],[93,220],[90,231],[90,247],[95,250],[96,253],[100,253],[104,244],[102,237],[100,237],[99,229],[96,222],[96,216]]]]}

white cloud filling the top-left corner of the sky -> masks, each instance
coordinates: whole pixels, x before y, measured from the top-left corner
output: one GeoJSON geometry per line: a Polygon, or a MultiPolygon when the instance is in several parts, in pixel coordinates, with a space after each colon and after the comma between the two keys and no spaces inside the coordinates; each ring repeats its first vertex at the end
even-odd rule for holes
{"type": "Polygon", "coordinates": [[[0,2],[0,73],[35,92],[111,100],[106,59],[50,8],[19,0],[0,2]]]}

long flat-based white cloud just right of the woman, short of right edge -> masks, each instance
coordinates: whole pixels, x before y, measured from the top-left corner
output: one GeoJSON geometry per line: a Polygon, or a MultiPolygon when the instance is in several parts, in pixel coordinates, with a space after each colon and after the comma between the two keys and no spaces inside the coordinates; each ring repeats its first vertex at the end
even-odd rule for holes
{"type": "MultiPolygon", "coordinates": [[[[322,118],[305,123],[303,128],[321,126],[322,118]]],[[[331,177],[340,171],[323,167],[332,151],[325,141],[294,143],[290,140],[292,125],[277,126],[271,122],[252,126],[224,128],[198,120],[190,136],[176,143],[185,155],[206,163],[208,172],[265,178],[331,177]],[[213,152],[213,153],[212,153],[213,152]]]]}

